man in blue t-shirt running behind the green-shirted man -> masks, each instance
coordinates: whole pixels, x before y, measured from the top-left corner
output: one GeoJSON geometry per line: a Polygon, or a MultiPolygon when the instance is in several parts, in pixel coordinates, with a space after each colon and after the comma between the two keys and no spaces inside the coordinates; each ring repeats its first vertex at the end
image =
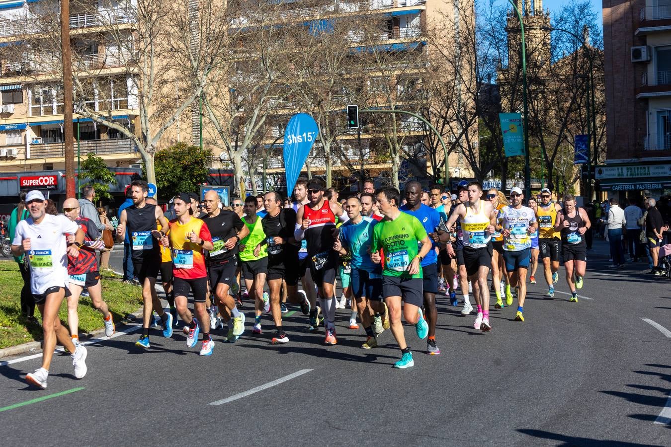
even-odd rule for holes
{"type": "MultiPolygon", "coordinates": [[[[440,214],[430,206],[419,202],[421,193],[421,183],[417,182],[417,180],[407,182],[405,184],[405,200],[407,204],[401,206],[399,209],[411,216],[415,216],[430,237],[433,231],[440,225],[440,214]]],[[[438,199],[440,200],[440,188],[438,188],[438,193],[438,199]]],[[[424,312],[429,324],[429,338],[427,339],[427,353],[429,355],[440,354],[440,348],[435,344],[435,323],[438,319],[438,310],[435,307],[435,294],[438,293],[438,255],[435,253],[435,247],[437,245],[433,245],[433,241],[431,241],[431,248],[424,259],[421,260],[424,312]]]]}

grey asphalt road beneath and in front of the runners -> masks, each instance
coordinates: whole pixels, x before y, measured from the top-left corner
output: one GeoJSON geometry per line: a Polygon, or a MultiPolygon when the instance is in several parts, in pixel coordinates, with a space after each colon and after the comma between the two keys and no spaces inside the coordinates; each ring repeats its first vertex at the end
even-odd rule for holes
{"type": "MultiPolygon", "coordinates": [[[[671,281],[643,275],[643,264],[611,271],[601,255],[577,304],[560,293],[544,300],[544,285],[531,285],[526,321],[513,321],[516,303],[492,308],[490,333],[442,298],[442,355],[425,355],[406,326],[407,370],[391,367],[399,350],[389,332],[384,346],[359,348],[364,331],[346,327],[345,310],[329,347],[300,312],[285,318],[289,344],[269,344],[264,317],[264,334],[235,344],[215,332],[212,357],[181,332],[152,334],[149,350],[130,332],[90,345],[79,381],[70,357],[56,355],[46,390],[23,382],[39,358],[0,362],[3,444],[669,446],[671,281]]],[[[558,292],[568,291],[563,273],[558,292]]]]}

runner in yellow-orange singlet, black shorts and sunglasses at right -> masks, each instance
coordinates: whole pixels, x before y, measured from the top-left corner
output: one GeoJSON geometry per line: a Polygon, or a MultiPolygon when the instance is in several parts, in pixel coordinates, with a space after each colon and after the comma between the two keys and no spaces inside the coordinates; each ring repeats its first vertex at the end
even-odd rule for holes
{"type": "Polygon", "coordinates": [[[548,298],[554,296],[553,284],[559,279],[560,232],[555,230],[555,226],[557,212],[561,209],[559,204],[552,202],[552,191],[548,188],[541,189],[541,202],[536,208],[536,218],[538,220],[538,247],[541,251],[546,283],[548,283],[546,294],[548,298]]]}

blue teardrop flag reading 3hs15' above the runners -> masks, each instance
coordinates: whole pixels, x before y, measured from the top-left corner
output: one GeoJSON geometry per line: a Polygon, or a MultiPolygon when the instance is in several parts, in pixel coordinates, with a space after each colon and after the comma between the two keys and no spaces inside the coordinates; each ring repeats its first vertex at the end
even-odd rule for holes
{"type": "Polygon", "coordinates": [[[293,192],[296,180],[301,174],[307,155],[310,153],[319,128],[313,117],[307,113],[297,113],[289,120],[285,130],[284,157],[287,171],[287,192],[293,192]]]}

